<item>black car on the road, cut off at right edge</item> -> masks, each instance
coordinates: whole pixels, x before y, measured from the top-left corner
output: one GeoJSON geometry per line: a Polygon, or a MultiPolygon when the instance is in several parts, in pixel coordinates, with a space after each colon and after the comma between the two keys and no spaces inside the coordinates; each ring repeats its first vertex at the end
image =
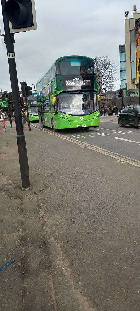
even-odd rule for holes
{"type": "Polygon", "coordinates": [[[140,105],[125,107],[119,115],[118,123],[121,128],[124,125],[135,125],[140,129],[140,105]]]}

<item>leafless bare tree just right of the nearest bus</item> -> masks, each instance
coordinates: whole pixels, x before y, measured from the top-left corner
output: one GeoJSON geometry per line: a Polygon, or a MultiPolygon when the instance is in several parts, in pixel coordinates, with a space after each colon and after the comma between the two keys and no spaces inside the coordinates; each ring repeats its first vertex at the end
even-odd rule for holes
{"type": "Polygon", "coordinates": [[[96,57],[96,64],[98,94],[113,90],[114,82],[117,81],[114,75],[118,66],[108,56],[96,57]]]}

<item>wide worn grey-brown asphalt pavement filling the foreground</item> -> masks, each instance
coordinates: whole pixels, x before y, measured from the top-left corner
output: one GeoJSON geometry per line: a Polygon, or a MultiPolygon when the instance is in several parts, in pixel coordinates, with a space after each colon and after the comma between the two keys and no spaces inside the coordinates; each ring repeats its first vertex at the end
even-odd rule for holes
{"type": "Polygon", "coordinates": [[[73,132],[33,126],[25,132],[30,191],[21,192],[15,129],[0,136],[1,265],[15,259],[1,272],[2,311],[140,310],[137,149],[125,162],[121,140],[95,134],[84,145],[73,132]],[[103,138],[108,153],[109,141],[119,142],[120,159],[86,145],[104,149],[103,138]]]}

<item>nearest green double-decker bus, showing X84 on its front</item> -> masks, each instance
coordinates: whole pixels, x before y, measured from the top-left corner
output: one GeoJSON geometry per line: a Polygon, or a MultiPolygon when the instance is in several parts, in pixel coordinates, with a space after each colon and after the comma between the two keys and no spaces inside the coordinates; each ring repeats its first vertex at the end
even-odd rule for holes
{"type": "Polygon", "coordinates": [[[37,82],[39,123],[54,132],[99,127],[97,80],[93,59],[58,58],[37,82]]]}

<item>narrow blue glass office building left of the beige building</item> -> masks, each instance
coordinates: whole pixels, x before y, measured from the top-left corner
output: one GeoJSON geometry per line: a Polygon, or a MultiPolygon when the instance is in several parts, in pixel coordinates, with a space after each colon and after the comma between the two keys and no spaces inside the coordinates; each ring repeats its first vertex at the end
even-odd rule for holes
{"type": "Polygon", "coordinates": [[[121,89],[126,89],[125,44],[119,45],[119,64],[120,64],[120,85],[121,85],[121,89]]]}

